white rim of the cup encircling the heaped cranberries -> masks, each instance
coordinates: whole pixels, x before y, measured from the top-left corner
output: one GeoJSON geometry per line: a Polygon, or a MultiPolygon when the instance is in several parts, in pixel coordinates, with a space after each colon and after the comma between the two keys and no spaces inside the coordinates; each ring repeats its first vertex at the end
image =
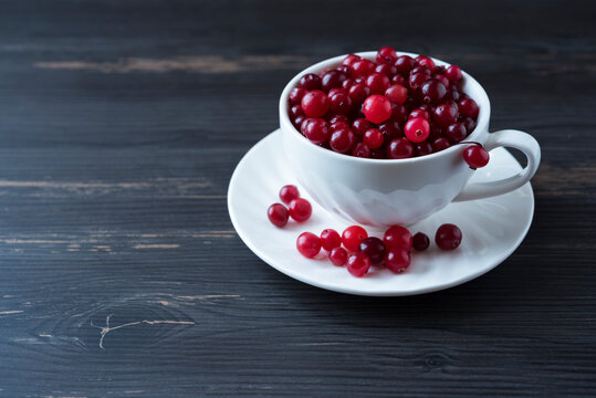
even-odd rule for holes
{"type": "MultiPolygon", "coordinates": [[[[416,54],[416,53],[401,52],[401,51],[396,51],[396,53],[397,53],[397,55],[409,55],[411,57],[416,57],[416,56],[419,55],[419,54],[416,54]]],[[[374,61],[377,52],[376,51],[363,51],[363,52],[357,52],[357,53],[354,53],[354,54],[359,55],[359,56],[362,56],[364,59],[374,61]]],[[[325,69],[338,65],[342,62],[342,60],[344,57],[346,57],[347,55],[348,54],[338,55],[338,56],[334,56],[334,57],[317,62],[317,63],[304,69],[303,71],[299,72],[294,77],[292,77],[290,80],[290,82],[283,88],[281,97],[280,97],[280,106],[279,106],[280,109],[279,111],[280,111],[280,121],[281,121],[281,124],[282,124],[282,126],[281,126],[282,130],[284,128],[291,128],[292,133],[295,133],[297,138],[304,139],[309,144],[311,144],[312,148],[315,148],[315,150],[322,150],[325,154],[327,154],[328,156],[341,157],[341,159],[343,159],[343,160],[360,161],[360,163],[368,163],[368,164],[390,165],[390,164],[420,163],[420,161],[437,158],[437,157],[440,157],[440,156],[448,156],[449,154],[452,154],[454,150],[459,149],[458,145],[452,145],[449,148],[440,150],[438,153],[424,155],[424,156],[418,156],[418,157],[411,157],[411,158],[405,158],[405,159],[372,159],[372,158],[362,158],[362,157],[357,157],[357,156],[349,156],[349,155],[346,155],[346,154],[338,154],[338,153],[333,151],[331,149],[326,149],[326,148],[320,147],[318,145],[312,144],[290,122],[290,116],[287,114],[289,108],[290,108],[289,101],[287,101],[287,97],[290,95],[290,91],[296,86],[297,82],[300,81],[300,78],[303,75],[305,75],[307,73],[318,74],[320,72],[324,71],[325,69]],[[283,126],[284,124],[285,124],[285,126],[283,126]]],[[[432,61],[435,61],[435,63],[437,65],[442,65],[442,66],[450,66],[451,65],[450,63],[445,62],[445,61],[439,60],[439,59],[435,59],[435,57],[430,57],[430,59],[432,61]]],[[[468,94],[472,100],[474,100],[478,103],[479,108],[480,108],[480,112],[479,112],[479,115],[478,115],[478,123],[477,123],[473,132],[470,135],[468,135],[468,137],[466,137],[466,140],[464,140],[464,142],[468,142],[468,140],[474,142],[478,138],[478,136],[480,136],[482,134],[483,130],[488,130],[490,113],[491,113],[491,104],[490,104],[490,101],[489,101],[489,96],[487,95],[487,92],[484,91],[484,87],[482,87],[482,85],[475,78],[473,78],[470,74],[466,73],[463,70],[461,71],[461,73],[463,75],[463,78],[466,80],[464,87],[466,86],[472,86],[473,90],[474,90],[474,93],[472,93],[473,95],[468,93],[468,92],[466,94],[468,94]]]]}

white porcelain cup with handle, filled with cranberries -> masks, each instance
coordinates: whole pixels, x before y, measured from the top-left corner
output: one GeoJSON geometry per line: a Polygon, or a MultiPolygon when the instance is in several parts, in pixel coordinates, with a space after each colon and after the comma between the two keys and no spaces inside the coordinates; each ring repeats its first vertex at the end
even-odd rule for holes
{"type": "MultiPolygon", "coordinates": [[[[374,60],[376,52],[358,55],[374,60]]],[[[401,52],[398,55],[417,56],[401,52]]],[[[510,192],[536,172],[541,157],[539,143],[520,130],[489,133],[489,97],[484,88],[464,72],[463,91],[480,107],[477,127],[466,142],[480,143],[487,150],[501,146],[520,149],[527,158],[527,166],[520,174],[491,182],[468,184],[474,171],[463,160],[466,145],[453,145],[436,154],[408,159],[368,159],[312,144],[290,122],[287,96],[301,76],[335,67],[344,57],[336,56],[300,72],[287,83],[280,98],[280,126],[290,166],[302,187],[325,210],[349,222],[370,227],[410,226],[452,201],[510,192]]],[[[437,65],[449,65],[433,61],[437,65]]]]}

